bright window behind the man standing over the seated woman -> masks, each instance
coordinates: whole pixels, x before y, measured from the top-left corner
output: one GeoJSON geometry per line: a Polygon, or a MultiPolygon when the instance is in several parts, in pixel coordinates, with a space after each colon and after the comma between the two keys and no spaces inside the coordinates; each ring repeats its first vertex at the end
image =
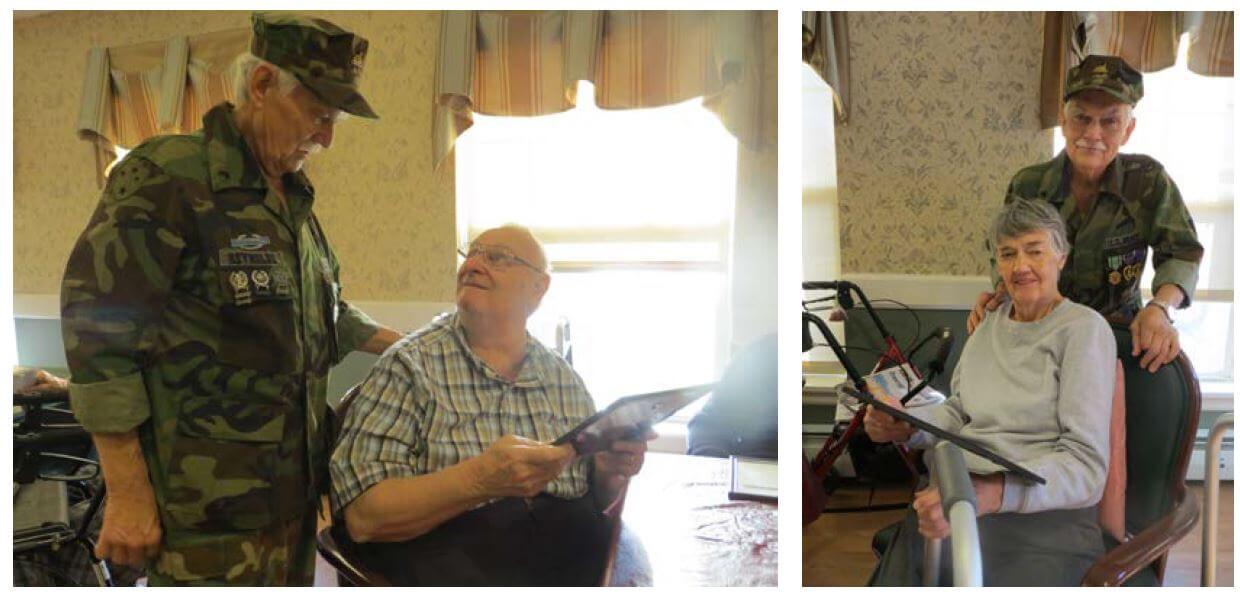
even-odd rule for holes
{"type": "MultiPolygon", "coordinates": [[[[1195,300],[1176,315],[1184,352],[1203,382],[1233,380],[1231,267],[1234,256],[1234,86],[1231,77],[1203,77],[1188,69],[1182,40],[1176,66],[1145,74],[1145,97],[1133,114],[1137,128],[1121,151],[1147,154],[1167,167],[1188,205],[1205,247],[1195,300]]],[[[1064,146],[1056,130],[1055,151],[1064,146]]],[[[1148,295],[1153,266],[1142,289],[1148,295]]]]}

